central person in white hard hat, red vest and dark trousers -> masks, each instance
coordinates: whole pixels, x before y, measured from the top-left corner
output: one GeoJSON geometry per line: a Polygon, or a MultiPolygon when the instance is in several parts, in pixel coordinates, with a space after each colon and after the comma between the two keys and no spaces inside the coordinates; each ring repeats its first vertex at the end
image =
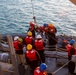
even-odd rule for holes
{"type": "Polygon", "coordinates": [[[44,47],[45,47],[45,43],[42,40],[41,35],[37,35],[35,42],[34,42],[34,48],[38,51],[38,53],[40,54],[40,58],[41,61],[44,63],[45,62],[45,56],[44,56],[44,47]]]}

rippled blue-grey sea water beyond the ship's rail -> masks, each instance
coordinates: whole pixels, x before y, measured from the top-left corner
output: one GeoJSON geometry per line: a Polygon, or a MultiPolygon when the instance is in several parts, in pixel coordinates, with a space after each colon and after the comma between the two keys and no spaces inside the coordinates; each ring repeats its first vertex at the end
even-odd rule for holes
{"type": "Polygon", "coordinates": [[[0,34],[26,33],[33,16],[38,25],[53,23],[57,34],[76,35],[76,6],[69,0],[0,0],[0,34]]]}

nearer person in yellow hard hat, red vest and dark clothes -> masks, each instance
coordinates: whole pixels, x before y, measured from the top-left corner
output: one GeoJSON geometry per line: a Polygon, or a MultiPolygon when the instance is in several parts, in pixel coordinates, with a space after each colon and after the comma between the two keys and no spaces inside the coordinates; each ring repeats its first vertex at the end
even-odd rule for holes
{"type": "Polygon", "coordinates": [[[26,58],[27,64],[30,66],[32,70],[34,70],[40,64],[40,56],[38,52],[32,48],[31,44],[27,45],[25,58],[26,58]]]}

